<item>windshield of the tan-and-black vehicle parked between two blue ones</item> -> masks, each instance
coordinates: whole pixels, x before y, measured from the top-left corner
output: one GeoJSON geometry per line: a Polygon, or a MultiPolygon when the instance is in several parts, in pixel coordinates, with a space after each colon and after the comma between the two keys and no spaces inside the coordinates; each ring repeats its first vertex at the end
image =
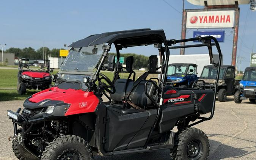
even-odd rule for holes
{"type": "MultiPolygon", "coordinates": [[[[226,68],[220,68],[220,77],[219,79],[223,79],[226,68]]],[[[208,67],[204,68],[200,78],[206,79],[216,79],[217,77],[217,68],[208,67]]]]}

